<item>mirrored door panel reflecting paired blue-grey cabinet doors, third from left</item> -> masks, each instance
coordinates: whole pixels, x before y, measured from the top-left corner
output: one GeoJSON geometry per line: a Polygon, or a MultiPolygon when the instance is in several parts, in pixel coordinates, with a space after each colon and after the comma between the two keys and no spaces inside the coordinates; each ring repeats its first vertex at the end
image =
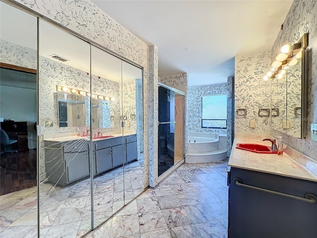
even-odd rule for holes
{"type": "Polygon", "coordinates": [[[91,71],[92,92],[107,95],[107,100],[93,99],[91,109],[92,133],[101,137],[93,142],[92,147],[96,227],[124,205],[123,136],[120,123],[121,60],[92,46],[91,71]]]}

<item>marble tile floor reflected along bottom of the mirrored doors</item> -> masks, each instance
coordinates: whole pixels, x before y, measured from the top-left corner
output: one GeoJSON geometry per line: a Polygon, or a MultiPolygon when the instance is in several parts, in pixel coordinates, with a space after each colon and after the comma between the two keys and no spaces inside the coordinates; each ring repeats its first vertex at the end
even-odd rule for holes
{"type": "MultiPolygon", "coordinates": [[[[138,161],[95,178],[95,225],[143,190],[143,154],[138,156],[138,161]]],[[[41,238],[77,238],[90,230],[90,179],[65,188],[41,184],[40,197],[41,238]]],[[[0,196],[0,237],[37,237],[36,186],[0,196]]]]}

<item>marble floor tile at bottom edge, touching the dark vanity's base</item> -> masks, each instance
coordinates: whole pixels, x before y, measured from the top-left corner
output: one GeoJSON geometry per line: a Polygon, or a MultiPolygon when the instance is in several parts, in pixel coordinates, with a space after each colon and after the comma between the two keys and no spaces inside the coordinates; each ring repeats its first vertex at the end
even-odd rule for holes
{"type": "Polygon", "coordinates": [[[219,221],[199,223],[195,225],[202,237],[227,238],[227,230],[219,221]]]}

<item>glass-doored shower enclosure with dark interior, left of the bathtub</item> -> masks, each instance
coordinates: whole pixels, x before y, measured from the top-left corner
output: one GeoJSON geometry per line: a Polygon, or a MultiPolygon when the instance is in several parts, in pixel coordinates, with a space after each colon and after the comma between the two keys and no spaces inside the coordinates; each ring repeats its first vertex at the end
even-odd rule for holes
{"type": "Polygon", "coordinates": [[[184,98],[183,92],[159,83],[159,176],[184,158],[184,98]]]}

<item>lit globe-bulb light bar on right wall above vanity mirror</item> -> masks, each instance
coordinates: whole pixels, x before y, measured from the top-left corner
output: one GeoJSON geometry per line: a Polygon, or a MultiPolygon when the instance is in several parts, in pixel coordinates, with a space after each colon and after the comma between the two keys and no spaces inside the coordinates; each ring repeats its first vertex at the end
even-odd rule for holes
{"type": "Polygon", "coordinates": [[[280,53],[271,63],[271,68],[263,77],[263,80],[267,81],[269,78],[275,77],[280,79],[283,77],[283,74],[285,74],[287,65],[296,65],[298,63],[298,59],[302,58],[302,51],[308,46],[307,39],[308,34],[305,33],[297,43],[282,46],[280,53]]]}

